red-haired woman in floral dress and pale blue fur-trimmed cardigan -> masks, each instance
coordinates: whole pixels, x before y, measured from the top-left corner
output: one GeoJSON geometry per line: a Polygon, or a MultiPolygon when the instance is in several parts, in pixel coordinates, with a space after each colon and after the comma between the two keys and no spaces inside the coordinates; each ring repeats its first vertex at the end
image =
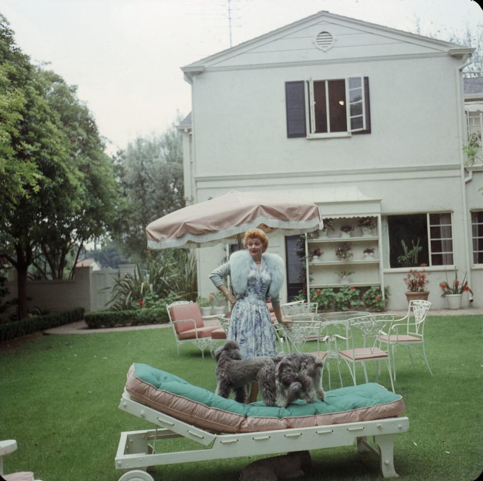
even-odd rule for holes
{"type": "MultiPolygon", "coordinates": [[[[261,229],[245,233],[245,250],[231,254],[228,262],[210,274],[213,284],[232,304],[227,340],[236,341],[241,356],[275,356],[277,349],[272,329],[270,311],[266,300],[270,299],[278,322],[282,322],[279,291],[284,280],[282,258],[265,251],[268,237],[261,229]],[[230,276],[234,294],[223,284],[230,276]]],[[[249,403],[257,400],[258,386],[252,384],[249,403]]]]}

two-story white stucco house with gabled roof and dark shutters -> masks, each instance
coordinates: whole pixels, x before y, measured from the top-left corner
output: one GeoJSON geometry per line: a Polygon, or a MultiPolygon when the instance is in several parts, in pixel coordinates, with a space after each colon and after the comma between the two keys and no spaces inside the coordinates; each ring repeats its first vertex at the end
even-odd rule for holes
{"type": "MultiPolygon", "coordinates": [[[[232,189],[286,192],[334,219],[328,238],[307,241],[307,253],[320,247],[326,261],[307,260],[305,277],[297,238],[271,238],[287,265],[282,300],[304,279],[337,289],[334,253],[349,224],[351,285],[389,287],[388,308],[407,308],[401,240],[421,248],[435,307],[446,307],[439,284],[455,267],[482,306],[483,170],[465,168],[462,151],[471,52],[323,11],[182,67],[192,88],[192,112],[178,126],[187,203],[232,189]],[[369,236],[362,216],[376,223],[369,236]],[[367,248],[374,260],[363,259],[367,248]]],[[[199,250],[202,295],[225,255],[222,246],[199,250]]]]}

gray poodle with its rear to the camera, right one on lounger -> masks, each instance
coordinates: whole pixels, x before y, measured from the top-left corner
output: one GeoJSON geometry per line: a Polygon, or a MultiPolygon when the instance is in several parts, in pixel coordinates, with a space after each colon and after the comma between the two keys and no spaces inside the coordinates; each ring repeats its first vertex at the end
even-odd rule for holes
{"type": "Polygon", "coordinates": [[[275,406],[286,408],[295,399],[313,403],[315,396],[324,400],[322,388],[323,362],[315,356],[294,352],[277,364],[275,371],[275,406]]]}

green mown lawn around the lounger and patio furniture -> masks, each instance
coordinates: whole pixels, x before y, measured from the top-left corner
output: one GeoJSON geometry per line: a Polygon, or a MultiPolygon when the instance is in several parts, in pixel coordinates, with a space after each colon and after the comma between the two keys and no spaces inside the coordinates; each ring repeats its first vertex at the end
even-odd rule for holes
{"type": "MultiPolygon", "coordinates": [[[[400,479],[470,480],[483,470],[482,323],[480,316],[428,319],[427,356],[434,377],[419,357],[414,369],[406,350],[399,348],[395,390],[404,396],[410,420],[409,431],[395,443],[400,479]]],[[[17,347],[0,345],[0,350],[0,439],[15,438],[19,445],[4,458],[5,471],[33,470],[44,481],[117,481],[121,472],[114,468],[114,456],[120,432],[149,427],[117,408],[131,363],[215,388],[213,359],[202,359],[191,346],[183,346],[178,357],[171,329],[51,335],[17,347]]],[[[342,370],[347,385],[344,364],[342,370]]],[[[333,387],[339,387],[336,373],[333,364],[333,387]]],[[[363,382],[362,369],[359,374],[363,382]]],[[[379,382],[389,385],[384,369],[379,382]]],[[[178,439],[165,443],[169,450],[187,445],[178,439]]],[[[311,455],[314,468],[307,479],[381,478],[375,458],[354,447],[311,455]]],[[[234,481],[252,460],[156,467],[151,475],[156,481],[234,481]]]]}

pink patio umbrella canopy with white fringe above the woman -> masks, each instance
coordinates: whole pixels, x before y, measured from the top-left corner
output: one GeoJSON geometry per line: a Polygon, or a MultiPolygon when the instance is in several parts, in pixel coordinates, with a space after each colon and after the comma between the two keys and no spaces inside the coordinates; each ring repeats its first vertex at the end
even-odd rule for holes
{"type": "Polygon", "coordinates": [[[254,227],[295,235],[321,225],[320,211],[313,202],[270,192],[231,191],[154,220],[146,227],[147,247],[208,247],[236,242],[237,235],[254,227]]]}

